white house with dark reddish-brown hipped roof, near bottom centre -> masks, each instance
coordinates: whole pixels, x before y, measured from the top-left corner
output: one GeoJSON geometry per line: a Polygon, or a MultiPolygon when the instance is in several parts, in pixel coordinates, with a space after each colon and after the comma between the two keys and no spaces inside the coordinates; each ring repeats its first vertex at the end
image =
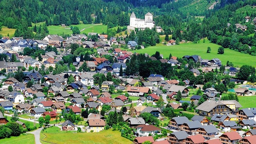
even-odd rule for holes
{"type": "Polygon", "coordinates": [[[161,133],[161,129],[151,124],[140,124],[135,127],[139,137],[148,136],[149,134],[155,135],[155,133],[161,133]]]}

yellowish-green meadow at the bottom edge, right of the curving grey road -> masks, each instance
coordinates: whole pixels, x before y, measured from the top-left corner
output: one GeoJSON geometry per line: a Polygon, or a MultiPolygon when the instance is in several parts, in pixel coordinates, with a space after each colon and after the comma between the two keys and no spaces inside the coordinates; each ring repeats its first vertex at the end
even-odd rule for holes
{"type": "MultiPolygon", "coordinates": [[[[73,132],[63,132],[60,131],[58,127],[52,127],[44,130],[43,134],[45,137],[41,138],[41,141],[44,140],[45,142],[49,141],[51,143],[56,144],[65,144],[65,143],[72,143],[72,144],[131,144],[132,141],[121,137],[121,133],[119,131],[112,131],[112,130],[104,130],[101,132],[94,132],[94,133],[73,133],[73,132]]],[[[41,135],[42,136],[42,135],[41,135]]]]}

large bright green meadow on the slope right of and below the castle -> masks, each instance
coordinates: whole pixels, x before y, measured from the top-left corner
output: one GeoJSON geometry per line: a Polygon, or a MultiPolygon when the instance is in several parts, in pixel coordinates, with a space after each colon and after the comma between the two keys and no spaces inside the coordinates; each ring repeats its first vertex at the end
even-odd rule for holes
{"type": "Polygon", "coordinates": [[[242,65],[252,65],[256,67],[256,63],[252,63],[252,61],[255,61],[256,56],[244,54],[241,52],[235,52],[228,48],[224,50],[224,54],[217,54],[219,47],[220,45],[210,43],[209,40],[205,39],[205,43],[203,43],[203,40],[201,40],[199,44],[186,43],[172,46],[157,44],[156,46],[151,46],[132,52],[148,53],[149,55],[153,55],[156,51],[159,51],[161,54],[164,55],[164,58],[169,57],[170,53],[172,53],[172,56],[176,56],[179,58],[182,58],[184,55],[199,55],[202,59],[208,60],[211,60],[213,58],[219,58],[222,63],[226,63],[229,60],[234,64],[235,67],[241,67],[242,65]],[[211,53],[206,53],[208,46],[211,47],[211,53]]]}

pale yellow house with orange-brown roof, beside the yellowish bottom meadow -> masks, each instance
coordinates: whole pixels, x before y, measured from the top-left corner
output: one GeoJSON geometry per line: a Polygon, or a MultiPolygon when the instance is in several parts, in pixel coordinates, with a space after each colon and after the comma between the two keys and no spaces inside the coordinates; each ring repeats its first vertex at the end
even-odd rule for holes
{"type": "Polygon", "coordinates": [[[89,128],[86,132],[100,132],[104,130],[105,121],[103,119],[90,119],[88,120],[89,128]]]}

